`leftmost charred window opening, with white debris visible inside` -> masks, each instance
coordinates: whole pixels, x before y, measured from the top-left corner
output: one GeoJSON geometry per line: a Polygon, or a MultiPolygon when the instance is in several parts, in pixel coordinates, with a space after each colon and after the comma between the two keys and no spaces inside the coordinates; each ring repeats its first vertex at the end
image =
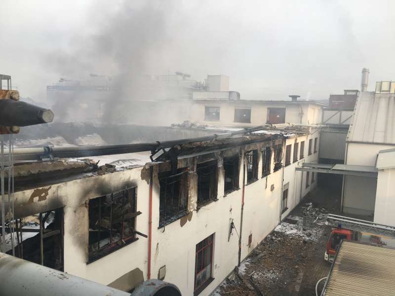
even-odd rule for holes
{"type": "Polygon", "coordinates": [[[17,219],[14,245],[16,257],[63,271],[63,208],[17,219]]]}

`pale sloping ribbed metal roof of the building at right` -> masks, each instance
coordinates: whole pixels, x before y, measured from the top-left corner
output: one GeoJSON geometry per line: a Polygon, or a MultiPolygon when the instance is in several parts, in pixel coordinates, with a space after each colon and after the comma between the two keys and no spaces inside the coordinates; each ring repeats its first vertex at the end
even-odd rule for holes
{"type": "Polygon", "coordinates": [[[347,142],[395,145],[395,94],[360,92],[347,142]]]}

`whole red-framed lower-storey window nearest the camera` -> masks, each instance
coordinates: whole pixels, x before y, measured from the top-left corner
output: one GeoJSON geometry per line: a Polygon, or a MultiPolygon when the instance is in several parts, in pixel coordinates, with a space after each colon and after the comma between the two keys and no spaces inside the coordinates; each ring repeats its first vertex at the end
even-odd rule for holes
{"type": "Polygon", "coordinates": [[[213,280],[213,243],[214,234],[211,234],[196,245],[194,295],[202,292],[213,280]]]}

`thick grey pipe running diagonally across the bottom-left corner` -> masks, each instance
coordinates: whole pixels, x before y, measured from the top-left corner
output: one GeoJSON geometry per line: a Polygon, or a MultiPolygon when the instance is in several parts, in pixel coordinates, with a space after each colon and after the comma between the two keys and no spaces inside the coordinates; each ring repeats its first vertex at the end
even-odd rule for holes
{"type": "Polygon", "coordinates": [[[1,296],[130,296],[129,293],[0,253],[1,296]]]}

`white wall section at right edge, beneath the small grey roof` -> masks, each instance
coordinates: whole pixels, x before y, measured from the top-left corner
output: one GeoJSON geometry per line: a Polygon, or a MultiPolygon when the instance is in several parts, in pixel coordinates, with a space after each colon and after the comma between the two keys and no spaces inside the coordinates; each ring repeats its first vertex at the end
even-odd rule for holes
{"type": "Polygon", "coordinates": [[[395,226],[395,169],[379,170],[374,222],[395,226]]]}

